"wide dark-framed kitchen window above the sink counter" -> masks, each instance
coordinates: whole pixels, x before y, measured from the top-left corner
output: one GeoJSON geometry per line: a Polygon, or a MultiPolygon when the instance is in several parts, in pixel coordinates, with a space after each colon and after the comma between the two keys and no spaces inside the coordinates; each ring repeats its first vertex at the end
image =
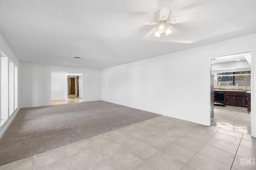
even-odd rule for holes
{"type": "Polygon", "coordinates": [[[251,71],[217,73],[218,86],[250,86],[251,71]]]}

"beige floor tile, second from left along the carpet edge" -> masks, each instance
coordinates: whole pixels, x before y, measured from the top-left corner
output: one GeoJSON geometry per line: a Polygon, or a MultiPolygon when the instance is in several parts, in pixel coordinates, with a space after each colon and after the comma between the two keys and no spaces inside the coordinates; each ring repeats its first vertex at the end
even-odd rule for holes
{"type": "Polygon", "coordinates": [[[33,170],[68,158],[64,147],[48,150],[33,156],[33,170]]]}

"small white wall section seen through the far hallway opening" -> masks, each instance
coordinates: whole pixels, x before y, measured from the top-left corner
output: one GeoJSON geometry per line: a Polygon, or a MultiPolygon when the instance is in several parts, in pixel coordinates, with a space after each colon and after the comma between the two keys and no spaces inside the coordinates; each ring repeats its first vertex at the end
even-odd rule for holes
{"type": "Polygon", "coordinates": [[[67,74],[61,72],[52,72],[52,100],[68,99],[67,74]]]}

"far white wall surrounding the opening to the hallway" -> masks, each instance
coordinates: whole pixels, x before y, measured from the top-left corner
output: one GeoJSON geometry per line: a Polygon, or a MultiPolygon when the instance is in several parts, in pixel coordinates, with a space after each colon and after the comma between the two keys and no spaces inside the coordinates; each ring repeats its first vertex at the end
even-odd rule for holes
{"type": "Polygon", "coordinates": [[[51,105],[51,72],[82,73],[82,101],[101,100],[101,70],[20,63],[22,108],[51,105]]]}

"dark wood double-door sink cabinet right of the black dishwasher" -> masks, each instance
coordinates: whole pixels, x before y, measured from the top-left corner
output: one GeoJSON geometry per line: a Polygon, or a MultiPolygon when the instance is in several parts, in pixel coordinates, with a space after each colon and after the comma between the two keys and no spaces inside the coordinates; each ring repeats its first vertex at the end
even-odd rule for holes
{"type": "Polygon", "coordinates": [[[247,107],[246,92],[225,92],[225,104],[228,106],[247,107]]]}

